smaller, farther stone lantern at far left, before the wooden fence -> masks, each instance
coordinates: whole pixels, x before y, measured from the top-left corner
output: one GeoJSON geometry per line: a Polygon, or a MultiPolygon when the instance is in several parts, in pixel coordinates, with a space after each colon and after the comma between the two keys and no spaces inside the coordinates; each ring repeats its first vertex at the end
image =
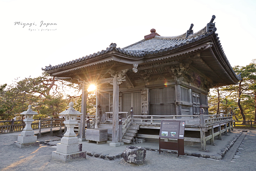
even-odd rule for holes
{"type": "Polygon", "coordinates": [[[35,136],[35,133],[33,129],[31,128],[31,124],[34,121],[33,115],[37,115],[37,112],[34,112],[31,109],[31,105],[29,105],[29,109],[27,111],[24,111],[20,113],[21,115],[25,115],[25,119],[23,121],[26,124],[26,127],[21,132],[20,136],[18,136],[18,140],[15,142],[15,144],[19,148],[24,148],[28,146],[39,146],[40,142],[37,141],[37,136],[35,136]]]}

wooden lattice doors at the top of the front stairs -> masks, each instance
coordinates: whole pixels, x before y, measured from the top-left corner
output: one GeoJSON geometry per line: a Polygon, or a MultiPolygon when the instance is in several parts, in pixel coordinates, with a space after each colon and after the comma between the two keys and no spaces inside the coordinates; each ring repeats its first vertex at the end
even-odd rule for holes
{"type": "Polygon", "coordinates": [[[141,92],[122,94],[122,111],[130,115],[131,107],[134,109],[134,117],[141,115],[141,92]]]}

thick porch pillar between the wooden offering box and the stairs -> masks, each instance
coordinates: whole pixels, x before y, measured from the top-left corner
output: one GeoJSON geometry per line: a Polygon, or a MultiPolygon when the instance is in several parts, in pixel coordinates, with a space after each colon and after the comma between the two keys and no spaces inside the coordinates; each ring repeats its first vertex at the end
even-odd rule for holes
{"type": "Polygon", "coordinates": [[[113,77],[113,128],[112,142],[118,142],[118,105],[119,105],[119,85],[117,84],[117,75],[113,77]]]}

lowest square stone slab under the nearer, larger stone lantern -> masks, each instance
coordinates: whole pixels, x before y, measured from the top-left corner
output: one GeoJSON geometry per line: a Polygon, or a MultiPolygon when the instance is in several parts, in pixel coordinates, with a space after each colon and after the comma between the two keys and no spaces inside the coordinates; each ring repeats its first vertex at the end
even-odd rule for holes
{"type": "Polygon", "coordinates": [[[63,154],[57,151],[52,151],[52,159],[62,162],[68,162],[74,159],[86,159],[86,151],[79,151],[77,153],[63,154]]]}

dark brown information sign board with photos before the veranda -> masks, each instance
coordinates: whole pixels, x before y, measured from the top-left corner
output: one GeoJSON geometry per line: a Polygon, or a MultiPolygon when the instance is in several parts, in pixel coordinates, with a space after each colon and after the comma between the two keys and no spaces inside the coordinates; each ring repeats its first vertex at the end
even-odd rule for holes
{"type": "Polygon", "coordinates": [[[185,121],[161,121],[159,134],[159,154],[161,148],[168,150],[177,150],[178,157],[184,155],[184,132],[185,121]],[[161,138],[177,139],[177,142],[163,142],[161,138]]]}

